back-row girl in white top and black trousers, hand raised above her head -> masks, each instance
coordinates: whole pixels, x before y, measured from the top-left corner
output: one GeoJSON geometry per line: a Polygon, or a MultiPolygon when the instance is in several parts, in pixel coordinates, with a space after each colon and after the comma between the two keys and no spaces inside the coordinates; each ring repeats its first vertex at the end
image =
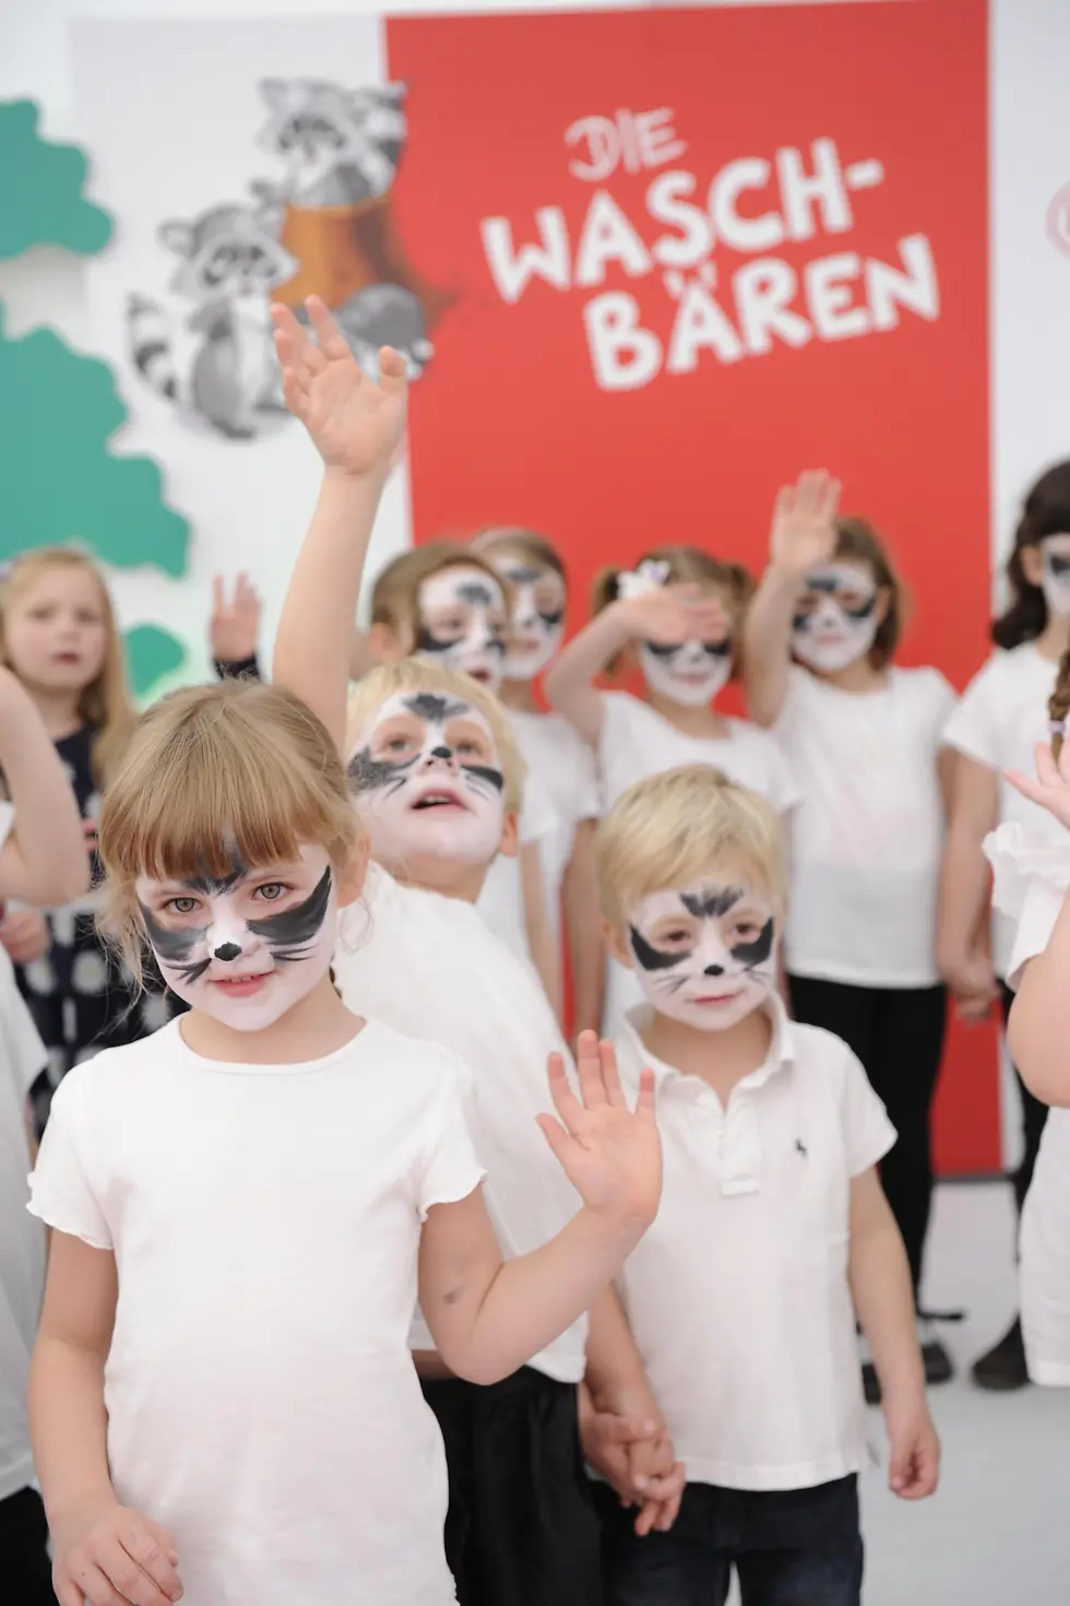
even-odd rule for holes
{"type": "MultiPolygon", "coordinates": [[[[773,511],[770,564],[744,631],[748,702],[799,779],[791,819],[784,964],[796,1020],[858,1055],[898,1132],[881,1182],[906,1245],[914,1298],[932,1208],[932,1099],[946,996],[937,890],[954,692],[892,660],[903,596],[861,519],[836,519],[839,485],[804,474],[773,511]]],[[[951,1357],[919,1320],[929,1383],[951,1357]]],[[[868,1397],[876,1375],[866,1363],[868,1397]]]]}

